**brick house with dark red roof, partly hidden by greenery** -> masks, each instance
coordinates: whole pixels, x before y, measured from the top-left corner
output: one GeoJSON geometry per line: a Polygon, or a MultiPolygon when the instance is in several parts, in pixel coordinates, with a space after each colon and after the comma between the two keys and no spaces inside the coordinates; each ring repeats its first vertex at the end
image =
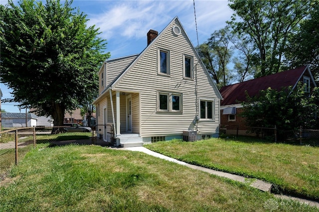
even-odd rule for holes
{"type": "Polygon", "coordinates": [[[219,91],[223,96],[220,103],[221,125],[231,125],[227,127],[229,130],[227,134],[236,134],[237,127],[239,127],[238,134],[246,134],[247,128],[245,121],[238,114],[242,112],[241,102],[246,101],[247,91],[250,97],[257,96],[259,91],[267,90],[268,88],[274,90],[281,90],[292,86],[293,89],[298,82],[306,84],[305,92],[311,91],[317,87],[315,79],[309,70],[308,66],[302,66],[289,71],[280,72],[277,74],[248,80],[234,85],[224,86],[219,91]]]}

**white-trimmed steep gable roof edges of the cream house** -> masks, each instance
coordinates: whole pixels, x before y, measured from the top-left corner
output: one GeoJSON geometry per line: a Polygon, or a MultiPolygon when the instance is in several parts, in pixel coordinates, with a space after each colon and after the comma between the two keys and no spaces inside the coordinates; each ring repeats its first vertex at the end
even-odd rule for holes
{"type": "MultiPolygon", "coordinates": [[[[103,93],[106,93],[107,91],[109,91],[110,89],[112,90],[124,77],[125,75],[135,66],[135,64],[149,51],[149,49],[151,49],[154,44],[160,39],[160,37],[162,37],[162,35],[168,30],[168,28],[175,22],[177,21],[179,23],[179,25],[181,26],[183,32],[185,33],[185,36],[186,36],[186,39],[188,39],[194,53],[196,54],[198,60],[201,62],[201,66],[203,67],[204,71],[207,73],[208,76],[209,75],[209,72],[207,71],[204,63],[202,62],[202,60],[200,59],[194,45],[192,44],[191,40],[189,39],[184,27],[182,26],[182,24],[180,23],[178,17],[174,17],[170,22],[169,24],[158,34],[158,36],[132,61],[132,63],[126,68],[124,69],[111,83],[110,85],[107,86],[107,88],[99,95],[99,97],[94,100],[93,104],[95,104],[100,98],[102,98],[103,96],[103,93]]],[[[126,57],[123,57],[123,58],[126,58],[126,57]]],[[[119,58],[121,59],[121,58],[119,58]]],[[[116,60],[116,59],[114,59],[116,60]]],[[[220,94],[216,84],[214,83],[213,79],[212,78],[209,78],[209,80],[211,80],[213,86],[215,87],[215,91],[217,92],[216,96],[219,98],[219,99],[222,99],[222,95],[220,94]]]]}

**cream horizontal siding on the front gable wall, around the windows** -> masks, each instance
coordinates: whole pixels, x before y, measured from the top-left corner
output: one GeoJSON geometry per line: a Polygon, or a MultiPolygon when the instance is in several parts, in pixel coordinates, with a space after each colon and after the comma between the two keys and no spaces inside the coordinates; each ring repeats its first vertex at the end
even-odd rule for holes
{"type": "MultiPolygon", "coordinates": [[[[200,134],[218,133],[219,99],[210,76],[204,71],[197,55],[178,21],[181,34],[172,34],[172,26],[115,86],[114,91],[138,92],[141,95],[141,136],[177,135],[183,130],[197,129],[200,134]],[[170,51],[170,76],[158,75],[158,48],[170,51]],[[193,57],[194,76],[197,74],[197,100],[214,100],[215,120],[192,123],[196,115],[195,79],[183,78],[183,54],[193,57]],[[196,71],[195,71],[196,70],[196,71]],[[157,111],[158,91],[182,94],[182,112],[157,111]]],[[[198,107],[199,110],[199,107],[198,107]]],[[[134,124],[133,124],[134,125],[134,124]]]]}

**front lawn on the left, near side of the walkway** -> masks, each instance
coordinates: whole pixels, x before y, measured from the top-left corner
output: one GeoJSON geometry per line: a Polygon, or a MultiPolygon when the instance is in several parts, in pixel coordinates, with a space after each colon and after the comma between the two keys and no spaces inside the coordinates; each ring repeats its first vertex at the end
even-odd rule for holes
{"type": "Polygon", "coordinates": [[[42,144],[0,182],[0,197],[0,212],[318,211],[144,153],[94,145],[42,144]]]}

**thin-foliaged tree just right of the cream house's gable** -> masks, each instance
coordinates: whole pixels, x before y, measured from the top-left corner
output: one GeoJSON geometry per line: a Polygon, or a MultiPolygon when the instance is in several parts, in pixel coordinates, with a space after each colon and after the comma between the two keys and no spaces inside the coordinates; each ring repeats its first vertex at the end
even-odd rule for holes
{"type": "Polygon", "coordinates": [[[211,34],[207,42],[197,47],[198,54],[218,87],[227,85],[232,76],[227,65],[232,56],[227,27],[211,34]]]}

